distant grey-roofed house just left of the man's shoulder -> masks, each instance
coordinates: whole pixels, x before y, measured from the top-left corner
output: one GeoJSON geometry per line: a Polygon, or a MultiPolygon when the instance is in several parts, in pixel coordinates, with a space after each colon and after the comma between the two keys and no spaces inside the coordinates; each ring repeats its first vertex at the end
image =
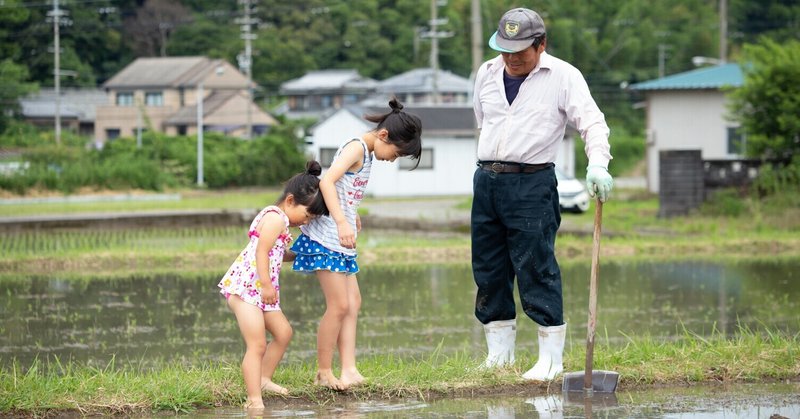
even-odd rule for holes
{"type": "Polygon", "coordinates": [[[445,70],[415,68],[381,81],[377,93],[384,97],[395,96],[406,105],[470,103],[472,82],[445,70]]]}

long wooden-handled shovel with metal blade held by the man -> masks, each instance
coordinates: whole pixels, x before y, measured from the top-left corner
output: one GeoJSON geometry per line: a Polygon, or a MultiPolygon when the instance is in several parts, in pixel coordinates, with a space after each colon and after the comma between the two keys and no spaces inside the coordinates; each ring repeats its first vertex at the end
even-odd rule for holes
{"type": "Polygon", "coordinates": [[[562,391],[583,391],[591,397],[593,392],[613,393],[617,389],[619,373],[592,371],[594,356],[594,329],[597,323],[597,280],[600,273],[600,230],[603,220],[603,202],[597,199],[594,211],[594,237],[592,239],[592,273],[589,282],[589,332],[586,336],[586,367],[584,371],[564,374],[562,391]]]}

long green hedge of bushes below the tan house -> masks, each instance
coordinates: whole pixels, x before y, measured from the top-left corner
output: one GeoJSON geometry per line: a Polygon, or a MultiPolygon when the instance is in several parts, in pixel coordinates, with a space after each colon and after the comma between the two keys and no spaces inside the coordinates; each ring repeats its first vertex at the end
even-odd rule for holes
{"type": "MultiPolygon", "coordinates": [[[[31,188],[71,193],[81,187],[145,189],[191,186],[197,179],[197,139],[148,132],[137,148],[131,138],[87,147],[87,139],[65,136],[55,145],[50,133],[17,127],[0,145],[22,151],[27,169],[0,175],[0,189],[24,194],[31,188]]],[[[273,133],[250,141],[208,133],[204,138],[203,175],[210,188],[273,186],[304,167],[305,157],[293,135],[273,133]]]]}

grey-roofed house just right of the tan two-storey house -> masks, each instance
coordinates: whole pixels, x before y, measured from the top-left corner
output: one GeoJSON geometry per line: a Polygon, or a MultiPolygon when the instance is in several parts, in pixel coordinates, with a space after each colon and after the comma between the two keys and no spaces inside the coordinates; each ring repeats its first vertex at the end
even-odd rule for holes
{"type": "Polygon", "coordinates": [[[377,81],[357,70],[318,70],[280,87],[287,98],[287,118],[319,118],[325,112],[356,104],[375,92],[377,81]]]}

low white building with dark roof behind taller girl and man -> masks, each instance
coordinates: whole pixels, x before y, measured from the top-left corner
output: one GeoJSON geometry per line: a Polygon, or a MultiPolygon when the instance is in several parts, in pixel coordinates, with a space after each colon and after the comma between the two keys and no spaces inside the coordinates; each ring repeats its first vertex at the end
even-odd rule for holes
{"type": "MultiPolygon", "coordinates": [[[[346,106],[311,127],[306,150],[322,164],[323,172],[330,167],[343,141],[375,128],[364,115],[388,112],[387,103],[346,106]]],[[[404,110],[422,121],[419,166],[409,171],[414,161],[408,158],[391,163],[375,162],[367,192],[378,197],[472,194],[477,149],[472,104],[409,105],[404,110]]],[[[574,137],[574,130],[565,135],[555,162],[569,174],[574,173],[574,137]]]]}

